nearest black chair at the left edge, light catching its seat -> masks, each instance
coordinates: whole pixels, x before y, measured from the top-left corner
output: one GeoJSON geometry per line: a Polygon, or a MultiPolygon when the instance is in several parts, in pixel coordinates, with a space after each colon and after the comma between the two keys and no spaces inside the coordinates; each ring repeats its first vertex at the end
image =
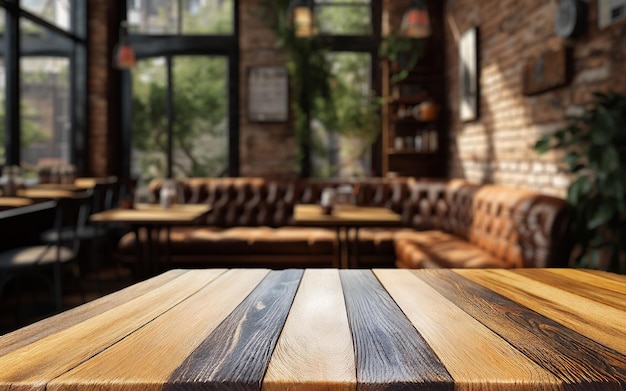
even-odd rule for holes
{"type": "MultiPolygon", "coordinates": [[[[62,300],[62,267],[70,267],[78,283],[80,293],[85,301],[85,293],[80,281],[78,254],[80,240],[78,231],[85,225],[91,208],[92,192],[77,193],[72,198],[61,198],[55,201],[55,218],[53,230],[57,240],[50,243],[22,246],[0,252],[0,298],[4,286],[11,280],[23,277],[37,277],[49,284],[54,293],[54,304],[57,311],[63,308],[62,300]],[[63,240],[67,239],[67,240],[63,240]],[[50,278],[50,272],[52,276],[50,278]]],[[[16,285],[19,287],[19,284],[16,285]]],[[[18,295],[18,318],[19,298],[18,295]]]]}

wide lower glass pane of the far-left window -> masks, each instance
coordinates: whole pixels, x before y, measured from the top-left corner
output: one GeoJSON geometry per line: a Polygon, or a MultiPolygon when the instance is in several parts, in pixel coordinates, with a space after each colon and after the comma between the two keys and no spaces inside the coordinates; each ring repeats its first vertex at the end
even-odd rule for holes
{"type": "Polygon", "coordinates": [[[22,57],[20,67],[21,164],[71,163],[69,59],[22,57]]]}

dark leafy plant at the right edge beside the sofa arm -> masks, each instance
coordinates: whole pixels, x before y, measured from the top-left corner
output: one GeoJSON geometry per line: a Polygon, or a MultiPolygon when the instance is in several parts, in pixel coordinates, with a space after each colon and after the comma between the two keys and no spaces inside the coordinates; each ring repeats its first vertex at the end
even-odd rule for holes
{"type": "Polygon", "coordinates": [[[625,272],[626,95],[596,93],[584,115],[535,144],[561,151],[572,174],[567,198],[575,210],[576,266],[625,272]]]}

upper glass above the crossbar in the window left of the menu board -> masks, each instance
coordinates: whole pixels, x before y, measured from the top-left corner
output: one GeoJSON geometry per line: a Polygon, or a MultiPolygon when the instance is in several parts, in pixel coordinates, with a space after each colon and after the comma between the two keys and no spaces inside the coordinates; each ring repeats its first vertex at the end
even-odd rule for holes
{"type": "Polygon", "coordinates": [[[129,0],[129,31],[138,34],[232,34],[234,0],[129,0]]]}

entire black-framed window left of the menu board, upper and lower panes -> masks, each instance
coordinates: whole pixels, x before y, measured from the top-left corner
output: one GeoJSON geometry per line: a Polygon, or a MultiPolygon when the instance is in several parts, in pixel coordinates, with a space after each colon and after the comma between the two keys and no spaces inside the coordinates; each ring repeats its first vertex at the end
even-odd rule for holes
{"type": "Polygon", "coordinates": [[[233,0],[128,1],[130,174],[237,174],[237,39],[233,0]]]}

